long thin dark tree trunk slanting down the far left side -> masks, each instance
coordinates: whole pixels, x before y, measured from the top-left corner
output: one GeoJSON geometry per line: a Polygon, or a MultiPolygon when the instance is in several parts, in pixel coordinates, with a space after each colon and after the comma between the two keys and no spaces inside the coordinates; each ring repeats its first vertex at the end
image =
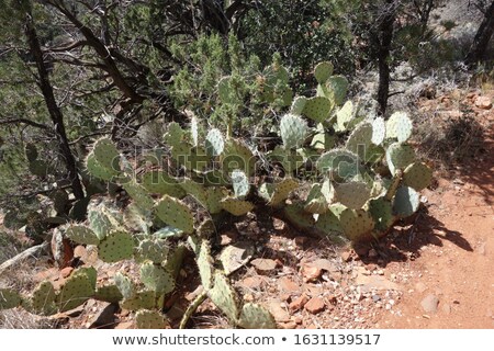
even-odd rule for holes
{"type": "Polygon", "coordinates": [[[72,155],[72,151],[70,150],[67,134],[65,132],[64,115],[61,114],[61,110],[59,109],[55,99],[55,94],[53,92],[53,87],[48,78],[46,64],[43,58],[43,50],[40,45],[37,33],[34,27],[31,8],[29,5],[26,10],[26,22],[24,27],[24,34],[27,38],[31,54],[33,55],[36,61],[36,68],[40,78],[38,84],[45,99],[49,117],[52,118],[52,123],[54,125],[54,129],[58,139],[58,148],[64,158],[65,166],[67,168],[67,173],[70,179],[74,195],[76,196],[76,199],[82,199],[85,197],[85,192],[82,189],[82,184],[80,183],[79,180],[76,159],[72,155]]]}

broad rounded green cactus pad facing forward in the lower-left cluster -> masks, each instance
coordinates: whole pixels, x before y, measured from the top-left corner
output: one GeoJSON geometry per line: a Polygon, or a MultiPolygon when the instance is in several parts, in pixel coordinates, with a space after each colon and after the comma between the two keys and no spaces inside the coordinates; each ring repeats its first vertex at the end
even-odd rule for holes
{"type": "Polygon", "coordinates": [[[134,253],[132,234],[122,229],[113,229],[98,245],[98,257],[103,262],[117,262],[131,259],[134,253]]]}

